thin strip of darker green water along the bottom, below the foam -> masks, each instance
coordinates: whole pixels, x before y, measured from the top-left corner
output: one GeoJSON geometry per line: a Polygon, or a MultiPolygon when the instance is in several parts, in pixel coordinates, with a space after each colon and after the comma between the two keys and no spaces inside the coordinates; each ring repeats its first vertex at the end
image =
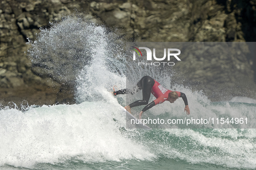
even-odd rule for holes
{"type": "MultiPolygon", "coordinates": [[[[25,168],[16,168],[12,166],[5,166],[3,167],[6,170],[12,169],[25,169],[25,168]]],[[[122,162],[106,162],[106,163],[97,163],[97,164],[85,164],[79,161],[68,161],[65,164],[38,164],[34,169],[61,169],[61,170],[68,170],[68,169],[76,169],[76,170],[205,170],[205,168],[209,170],[236,170],[237,168],[227,168],[227,167],[218,167],[211,164],[188,164],[185,161],[181,160],[172,160],[172,159],[159,159],[158,161],[122,161],[122,162]]]]}

